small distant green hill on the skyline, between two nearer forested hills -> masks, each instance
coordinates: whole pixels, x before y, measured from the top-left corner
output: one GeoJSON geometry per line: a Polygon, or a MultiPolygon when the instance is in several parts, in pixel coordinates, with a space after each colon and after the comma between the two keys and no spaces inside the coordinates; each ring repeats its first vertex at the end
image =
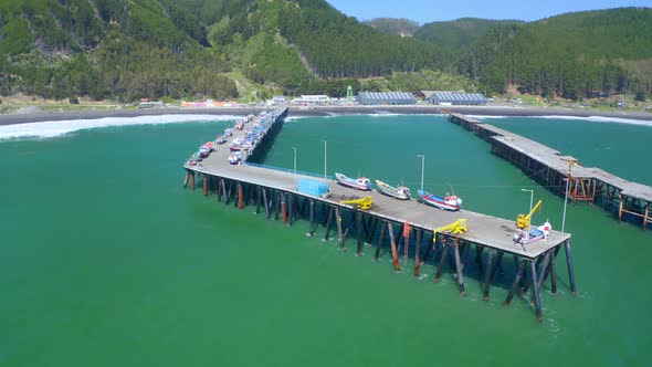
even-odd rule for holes
{"type": "Polygon", "coordinates": [[[455,54],[485,35],[492,28],[518,23],[523,22],[517,20],[462,18],[448,22],[423,24],[414,32],[413,36],[441,46],[448,54],[455,54]]]}

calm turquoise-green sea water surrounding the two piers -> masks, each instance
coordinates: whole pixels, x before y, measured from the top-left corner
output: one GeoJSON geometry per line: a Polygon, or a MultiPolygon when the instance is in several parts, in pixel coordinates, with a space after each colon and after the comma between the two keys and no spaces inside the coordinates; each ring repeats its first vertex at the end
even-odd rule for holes
{"type": "MultiPolygon", "coordinates": [[[[625,179],[652,185],[652,127],[487,119],[625,179]]],[[[0,366],[644,366],[652,345],[652,231],[570,205],[578,294],[558,258],[544,286],[502,306],[512,259],[482,301],[183,190],[183,158],[228,122],[106,127],[0,140],[0,366]]],[[[454,190],[465,208],[560,228],[562,198],[443,116],[291,119],[265,162],[454,190]]],[[[461,213],[463,217],[463,213],[461,213]]],[[[470,223],[473,226],[473,223],[470,223]]],[[[401,260],[402,263],[402,260],[401,260]]]]}

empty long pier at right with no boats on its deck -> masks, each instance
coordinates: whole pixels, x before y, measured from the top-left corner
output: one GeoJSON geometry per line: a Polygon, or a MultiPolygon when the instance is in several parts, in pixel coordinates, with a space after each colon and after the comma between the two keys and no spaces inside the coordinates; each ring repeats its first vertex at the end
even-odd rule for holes
{"type": "Polygon", "coordinates": [[[562,197],[598,205],[619,221],[640,223],[643,229],[652,221],[652,187],[583,167],[550,147],[465,115],[450,114],[449,120],[490,141],[494,154],[562,197]]]}

